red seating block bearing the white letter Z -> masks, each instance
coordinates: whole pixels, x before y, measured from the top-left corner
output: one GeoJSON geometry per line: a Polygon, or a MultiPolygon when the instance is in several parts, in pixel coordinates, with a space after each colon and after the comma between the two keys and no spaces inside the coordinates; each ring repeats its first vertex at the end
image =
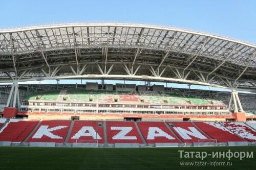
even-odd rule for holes
{"type": "Polygon", "coordinates": [[[143,143],[134,122],[106,122],[109,143],[143,143]]]}

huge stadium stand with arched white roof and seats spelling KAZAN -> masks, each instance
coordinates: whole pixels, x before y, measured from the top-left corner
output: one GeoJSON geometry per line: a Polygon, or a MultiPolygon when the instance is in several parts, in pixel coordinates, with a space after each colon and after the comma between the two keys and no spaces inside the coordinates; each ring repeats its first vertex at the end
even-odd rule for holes
{"type": "Polygon", "coordinates": [[[0,83],[0,145],[23,146],[6,152],[255,149],[256,45],[248,42],[139,23],[2,29],[0,83]],[[57,83],[26,84],[44,80],[57,83]]]}

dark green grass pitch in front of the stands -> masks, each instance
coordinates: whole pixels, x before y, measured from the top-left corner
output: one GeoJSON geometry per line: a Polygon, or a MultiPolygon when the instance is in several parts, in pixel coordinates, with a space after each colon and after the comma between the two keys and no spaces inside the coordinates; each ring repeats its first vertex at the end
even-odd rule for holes
{"type": "Polygon", "coordinates": [[[37,148],[0,147],[0,169],[256,169],[256,147],[37,148]],[[184,151],[253,151],[253,158],[180,158],[184,151]],[[232,166],[181,166],[180,162],[232,162],[232,166]]]}

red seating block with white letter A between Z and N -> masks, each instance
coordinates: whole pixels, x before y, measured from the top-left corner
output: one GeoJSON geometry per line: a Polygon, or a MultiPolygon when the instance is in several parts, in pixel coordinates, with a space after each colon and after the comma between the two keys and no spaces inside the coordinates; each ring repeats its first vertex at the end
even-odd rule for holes
{"type": "Polygon", "coordinates": [[[163,122],[138,122],[147,143],[181,143],[163,122]]]}

